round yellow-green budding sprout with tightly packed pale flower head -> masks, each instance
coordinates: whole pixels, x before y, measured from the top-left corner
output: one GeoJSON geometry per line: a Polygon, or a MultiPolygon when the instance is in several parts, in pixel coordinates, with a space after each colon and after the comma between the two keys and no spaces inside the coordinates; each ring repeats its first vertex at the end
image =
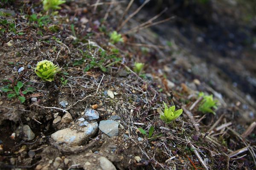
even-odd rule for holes
{"type": "Polygon", "coordinates": [[[35,74],[40,77],[43,81],[53,81],[55,74],[61,71],[58,65],[54,65],[48,60],[43,60],[37,63],[35,74]]]}

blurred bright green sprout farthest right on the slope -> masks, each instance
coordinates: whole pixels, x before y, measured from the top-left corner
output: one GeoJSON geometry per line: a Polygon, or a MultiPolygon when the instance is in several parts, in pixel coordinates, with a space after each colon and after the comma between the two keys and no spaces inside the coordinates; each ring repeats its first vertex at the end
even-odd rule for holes
{"type": "Polygon", "coordinates": [[[203,97],[203,100],[201,101],[198,111],[201,111],[202,113],[212,113],[216,114],[212,109],[217,109],[217,103],[218,100],[214,100],[212,95],[205,95],[203,92],[200,92],[199,97],[203,97]]]}

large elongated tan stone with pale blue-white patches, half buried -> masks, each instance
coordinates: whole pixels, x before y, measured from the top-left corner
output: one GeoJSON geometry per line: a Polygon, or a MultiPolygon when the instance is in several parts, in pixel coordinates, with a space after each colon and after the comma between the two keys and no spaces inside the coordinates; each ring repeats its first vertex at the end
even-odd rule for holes
{"type": "Polygon", "coordinates": [[[93,122],[89,123],[86,127],[83,127],[81,130],[75,129],[62,129],[51,135],[52,139],[57,142],[65,142],[67,144],[76,146],[81,145],[87,142],[90,136],[93,136],[98,130],[98,123],[93,122]]]}

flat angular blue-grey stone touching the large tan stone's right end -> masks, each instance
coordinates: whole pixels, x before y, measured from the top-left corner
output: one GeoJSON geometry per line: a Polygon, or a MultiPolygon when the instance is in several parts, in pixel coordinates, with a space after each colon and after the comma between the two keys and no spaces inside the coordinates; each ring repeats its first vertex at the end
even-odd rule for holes
{"type": "Polygon", "coordinates": [[[119,123],[113,120],[102,120],[99,122],[99,129],[109,137],[118,136],[119,123]]]}

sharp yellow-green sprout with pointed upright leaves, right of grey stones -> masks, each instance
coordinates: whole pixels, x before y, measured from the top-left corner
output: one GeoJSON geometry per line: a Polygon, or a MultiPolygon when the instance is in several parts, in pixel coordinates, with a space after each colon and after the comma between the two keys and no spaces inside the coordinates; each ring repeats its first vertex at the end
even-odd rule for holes
{"type": "Polygon", "coordinates": [[[182,113],[183,109],[179,109],[175,111],[175,105],[168,108],[165,102],[163,102],[164,105],[164,112],[161,111],[160,113],[160,119],[169,124],[171,121],[177,119],[182,113]]]}

